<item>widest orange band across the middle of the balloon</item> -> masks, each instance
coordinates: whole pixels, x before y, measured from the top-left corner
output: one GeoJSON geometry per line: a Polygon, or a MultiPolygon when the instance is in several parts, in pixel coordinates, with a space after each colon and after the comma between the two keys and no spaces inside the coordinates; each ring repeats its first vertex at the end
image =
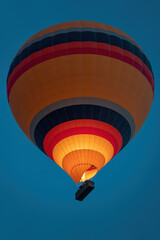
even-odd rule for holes
{"type": "Polygon", "coordinates": [[[31,121],[46,106],[71,97],[97,97],[125,108],[132,115],[137,132],[148,115],[153,93],[144,75],[135,70],[133,78],[133,67],[122,64],[121,77],[116,73],[119,60],[103,56],[93,59],[87,54],[70,55],[34,66],[16,81],[10,93],[10,106],[18,124],[30,138],[31,121]],[[117,81],[118,85],[115,84],[117,81]],[[99,84],[96,85],[96,82],[99,84]],[[141,113],[144,107],[144,102],[141,101],[144,88],[146,106],[141,113]],[[31,94],[34,96],[32,102],[29,98],[31,94]]]}

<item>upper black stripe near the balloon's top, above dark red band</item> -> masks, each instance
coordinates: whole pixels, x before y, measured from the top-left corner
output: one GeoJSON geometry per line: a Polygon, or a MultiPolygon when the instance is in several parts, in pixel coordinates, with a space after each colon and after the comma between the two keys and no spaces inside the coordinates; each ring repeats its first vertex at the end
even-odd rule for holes
{"type": "Polygon", "coordinates": [[[109,34],[101,33],[101,32],[75,31],[75,32],[68,32],[68,33],[60,33],[55,36],[46,37],[43,40],[34,42],[29,47],[26,47],[19,55],[17,55],[14,58],[11,66],[10,66],[10,69],[9,69],[8,78],[9,78],[9,75],[13,72],[14,68],[21,61],[23,61],[25,58],[27,58],[28,56],[30,56],[31,54],[33,54],[37,51],[40,51],[44,48],[55,46],[55,45],[58,45],[61,43],[84,42],[84,41],[107,43],[107,44],[125,49],[125,50],[135,54],[137,57],[139,57],[142,60],[142,62],[152,72],[150,62],[147,59],[146,55],[137,46],[133,45],[131,42],[129,42],[127,40],[123,40],[117,36],[109,35],[109,34]]]}

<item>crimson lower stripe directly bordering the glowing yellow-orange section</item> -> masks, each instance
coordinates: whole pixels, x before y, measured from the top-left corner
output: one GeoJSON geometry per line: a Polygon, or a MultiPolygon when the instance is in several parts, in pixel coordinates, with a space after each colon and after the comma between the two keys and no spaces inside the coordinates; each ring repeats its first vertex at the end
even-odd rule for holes
{"type": "MultiPolygon", "coordinates": [[[[48,138],[46,135],[43,142],[44,151],[51,159],[53,159],[52,152],[55,145],[64,138],[67,138],[73,135],[78,135],[78,134],[91,134],[91,135],[96,135],[96,136],[105,138],[113,145],[113,148],[114,148],[113,156],[115,156],[120,151],[119,144],[117,143],[116,138],[111,133],[104,131],[102,129],[94,128],[94,127],[69,128],[53,136],[53,138],[51,139],[50,137],[48,138]]],[[[119,141],[121,141],[120,138],[119,138],[119,141]]],[[[121,141],[121,146],[122,146],[122,141],[121,141]]]]}

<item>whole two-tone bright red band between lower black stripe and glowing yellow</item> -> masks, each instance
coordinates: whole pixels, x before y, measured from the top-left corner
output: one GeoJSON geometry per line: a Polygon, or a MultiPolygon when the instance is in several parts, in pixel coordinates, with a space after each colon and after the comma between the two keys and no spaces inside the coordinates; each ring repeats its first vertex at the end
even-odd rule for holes
{"type": "MultiPolygon", "coordinates": [[[[52,151],[56,143],[58,143],[60,140],[64,139],[66,136],[69,136],[68,133],[66,135],[66,131],[69,133],[69,135],[76,135],[81,132],[81,134],[84,133],[91,133],[98,136],[106,136],[106,139],[111,139],[110,141],[115,142],[114,144],[114,151],[115,154],[120,151],[122,147],[122,136],[117,131],[116,128],[113,126],[96,121],[96,120],[73,120],[69,122],[62,123],[56,127],[54,127],[52,130],[48,132],[48,134],[45,136],[43,145],[45,153],[52,159],[52,151]],[[87,128],[87,129],[86,129],[87,128]],[[88,129],[89,128],[89,129],[88,129]],[[77,129],[79,129],[77,131],[77,129]],[[85,130],[86,129],[86,130],[85,130]],[[75,131],[73,131],[75,130],[75,131]],[[102,130],[103,132],[99,132],[98,130],[102,130]],[[59,137],[58,137],[59,136],[59,137]],[[110,136],[110,137],[109,137],[110,136]],[[112,138],[111,138],[112,136],[112,138]]],[[[112,143],[113,145],[113,143],[112,143]]]]}

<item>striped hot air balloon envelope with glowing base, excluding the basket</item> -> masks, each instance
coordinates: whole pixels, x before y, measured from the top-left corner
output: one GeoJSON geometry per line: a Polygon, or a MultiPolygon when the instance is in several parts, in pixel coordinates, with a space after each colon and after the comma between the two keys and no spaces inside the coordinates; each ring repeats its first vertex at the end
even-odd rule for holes
{"type": "Polygon", "coordinates": [[[75,183],[87,181],[92,190],[89,179],[146,120],[154,77],[129,35],[98,22],[72,21],[40,31],[20,48],[7,95],[27,137],[75,183]]]}

